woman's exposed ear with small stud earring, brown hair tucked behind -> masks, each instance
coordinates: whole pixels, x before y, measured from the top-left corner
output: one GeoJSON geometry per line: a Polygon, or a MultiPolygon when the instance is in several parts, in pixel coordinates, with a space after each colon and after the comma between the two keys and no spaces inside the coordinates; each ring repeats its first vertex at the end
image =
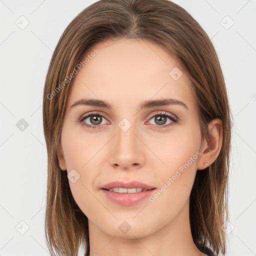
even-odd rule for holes
{"type": "Polygon", "coordinates": [[[201,147],[201,155],[197,161],[197,169],[205,169],[218,157],[222,146],[222,121],[219,118],[208,123],[210,141],[204,139],[201,147]]]}

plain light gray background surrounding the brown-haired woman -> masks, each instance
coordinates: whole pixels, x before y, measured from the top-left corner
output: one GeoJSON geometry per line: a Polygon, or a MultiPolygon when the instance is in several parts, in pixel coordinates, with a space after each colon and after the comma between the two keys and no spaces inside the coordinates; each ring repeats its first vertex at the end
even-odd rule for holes
{"type": "MultiPolygon", "coordinates": [[[[1,256],[49,255],[43,222],[47,163],[43,84],[61,33],[92,2],[0,0],[1,256]],[[25,18],[20,18],[22,15],[25,18]],[[26,19],[29,24],[20,29],[26,19]],[[21,118],[28,123],[23,131],[16,126],[21,118]]],[[[174,2],[185,8],[211,38],[234,117],[227,255],[256,255],[256,1],[174,2]],[[234,24],[229,27],[232,20],[234,24]]]]}

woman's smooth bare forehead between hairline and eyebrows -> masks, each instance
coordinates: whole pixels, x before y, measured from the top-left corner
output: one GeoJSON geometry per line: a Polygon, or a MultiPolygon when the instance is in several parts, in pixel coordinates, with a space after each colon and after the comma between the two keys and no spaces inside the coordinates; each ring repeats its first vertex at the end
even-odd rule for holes
{"type": "Polygon", "coordinates": [[[178,58],[155,42],[98,42],[86,50],[81,61],[85,58],[86,64],[72,79],[69,105],[84,97],[106,99],[118,105],[162,97],[195,104],[190,80],[178,58]]]}

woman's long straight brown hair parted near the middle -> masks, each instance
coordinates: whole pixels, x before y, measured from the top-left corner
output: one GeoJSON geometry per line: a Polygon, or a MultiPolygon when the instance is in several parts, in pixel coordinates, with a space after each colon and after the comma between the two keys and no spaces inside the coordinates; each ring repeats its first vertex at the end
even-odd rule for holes
{"type": "Polygon", "coordinates": [[[190,194],[189,218],[195,244],[226,251],[222,224],[228,220],[227,184],[231,114],[223,74],[215,49],[198,22],[169,0],[99,0],[80,12],[67,26],[53,52],[43,92],[43,130],[48,176],[45,237],[51,255],[77,255],[81,242],[89,252],[88,219],[75,203],[67,172],[58,165],[57,149],[70,74],[86,49],[113,38],[141,38],[174,53],[192,82],[202,138],[209,141],[207,123],[220,118],[222,147],[217,159],[197,171],[190,194]],[[64,82],[63,82],[64,81],[64,82]]]}

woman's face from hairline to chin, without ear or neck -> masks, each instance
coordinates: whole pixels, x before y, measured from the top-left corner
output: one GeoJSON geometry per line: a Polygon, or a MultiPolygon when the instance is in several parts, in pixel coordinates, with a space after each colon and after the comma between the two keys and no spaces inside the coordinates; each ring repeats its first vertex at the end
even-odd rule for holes
{"type": "Polygon", "coordinates": [[[86,56],[67,100],[59,165],[70,172],[72,195],[89,228],[138,238],[184,211],[187,220],[201,135],[179,61],[141,39],[100,42],[86,56]]]}

